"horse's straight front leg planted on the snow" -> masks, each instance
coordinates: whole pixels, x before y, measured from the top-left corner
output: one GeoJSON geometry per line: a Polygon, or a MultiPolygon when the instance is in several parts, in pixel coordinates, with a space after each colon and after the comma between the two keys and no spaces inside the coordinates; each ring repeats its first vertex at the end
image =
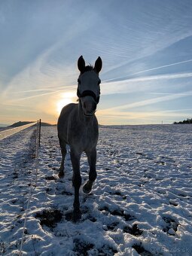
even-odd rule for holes
{"type": "Polygon", "coordinates": [[[81,219],[80,203],[79,203],[79,188],[81,187],[81,173],[80,173],[80,157],[81,154],[76,152],[71,148],[70,151],[72,168],[73,168],[73,178],[72,182],[75,187],[75,199],[73,203],[73,221],[78,221],[81,219]]]}

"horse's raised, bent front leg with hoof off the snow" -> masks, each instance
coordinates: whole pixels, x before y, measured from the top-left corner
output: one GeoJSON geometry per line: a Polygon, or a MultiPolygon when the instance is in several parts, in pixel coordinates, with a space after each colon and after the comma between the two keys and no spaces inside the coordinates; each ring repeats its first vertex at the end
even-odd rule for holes
{"type": "Polygon", "coordinates": [[[86,154],[90,165],[90,173],[89,180],[84,184],[83,191],[85,194],[90,194],[93,182],[96,180],[96,148],[93,148],[92,151],[87,151],[86,154]]]}

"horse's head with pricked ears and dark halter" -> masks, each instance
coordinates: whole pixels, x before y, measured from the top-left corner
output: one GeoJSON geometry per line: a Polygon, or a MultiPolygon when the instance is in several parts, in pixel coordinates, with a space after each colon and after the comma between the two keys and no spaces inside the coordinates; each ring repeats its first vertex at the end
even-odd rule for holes
{"type": "Polygon", "coordinates": [[[85,66],[84,58],[78,59],[78,69],[80,75],[78,78],[78,98],[85,116],[91,117],[96,111],[96,105],[99,103],[100,79],[99,72],[102,69],[102,59],[98,57],[95,66],[85,66]]]}

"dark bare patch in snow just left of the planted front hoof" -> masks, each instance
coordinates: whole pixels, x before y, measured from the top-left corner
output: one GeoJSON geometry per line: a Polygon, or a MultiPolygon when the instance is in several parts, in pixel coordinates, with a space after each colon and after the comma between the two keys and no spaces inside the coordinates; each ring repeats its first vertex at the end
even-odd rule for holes
{"type": "Polygon", "coordinates": [[[35,218],[40,219],[41,226],[56,227],[56,224],[62,219],[62,213],[59,210],[44,210],[41,213],[38,212],[35,218]]]}

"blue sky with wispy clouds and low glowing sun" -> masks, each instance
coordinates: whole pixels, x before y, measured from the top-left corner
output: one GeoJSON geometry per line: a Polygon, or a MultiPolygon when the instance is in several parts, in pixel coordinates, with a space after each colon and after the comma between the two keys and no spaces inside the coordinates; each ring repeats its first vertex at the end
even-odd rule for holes
{"type": "Polygon", "coordinates": [[[56,123],[101,56],[100,124],[192,117],[191,0],[2,0],[0,123],[56,123]]]}

